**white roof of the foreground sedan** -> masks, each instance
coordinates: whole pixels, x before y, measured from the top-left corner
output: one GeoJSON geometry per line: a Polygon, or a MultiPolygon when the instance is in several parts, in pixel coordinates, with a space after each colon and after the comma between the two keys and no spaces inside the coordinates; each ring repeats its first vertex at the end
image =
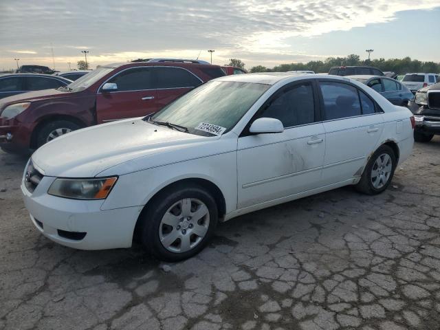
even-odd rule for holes
{"type": "Polygon", "coordinates": [[[328,74],[298,74],[296,72],[261,72],[254,74],[232,74],[216,78],[217,81],[236,81],[239,83],[256,83],[265,85],[275,85],[278,81],[287,80],[289,78],[324,78],[348,81],[342,76],[332,76],[328,74]]]}

